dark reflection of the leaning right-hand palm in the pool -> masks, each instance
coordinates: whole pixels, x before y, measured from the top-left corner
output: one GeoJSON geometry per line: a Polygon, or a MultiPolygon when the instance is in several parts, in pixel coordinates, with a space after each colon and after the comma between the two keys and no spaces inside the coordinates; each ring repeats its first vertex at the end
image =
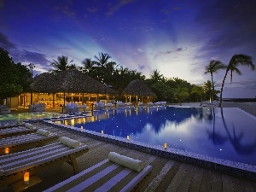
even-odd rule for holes
{"type": "Polygon", "coordinates": [[[244,136],[244,133],[241,132],[239,135],[236,133],[236,127],[235,125],[232,125],[232,133],[230,133],[228,126],[224,119],[224,108],[221,108],[221,118],[224,124],[225,131],[228,134],[228,137],[230,139],[230,143],[233,145],[233,147],[236,149],[236,152],[239,154],[253,154],[256,150],[256,139],[253,143],[250,144],[242,144],[241,139],[244,136]]]}

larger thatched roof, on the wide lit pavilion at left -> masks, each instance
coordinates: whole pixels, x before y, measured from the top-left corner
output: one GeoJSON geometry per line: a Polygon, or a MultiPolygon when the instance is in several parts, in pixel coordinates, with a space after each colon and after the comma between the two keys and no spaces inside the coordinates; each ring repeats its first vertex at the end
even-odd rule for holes
{"type": "Polygon", "coordinates": [[[69,69],[59,73],[42,73],[34,79],[32,91],[43,93],[114,93],[114,90],[77,69],[69,69]]]}

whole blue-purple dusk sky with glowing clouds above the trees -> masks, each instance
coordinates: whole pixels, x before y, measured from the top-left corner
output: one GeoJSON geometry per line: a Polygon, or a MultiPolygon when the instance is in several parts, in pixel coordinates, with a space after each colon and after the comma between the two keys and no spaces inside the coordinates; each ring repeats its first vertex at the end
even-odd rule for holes
{"type": "MultiPolygon", "coordinates": [[[[245,54],[256,64],[255,8],[256,0],[0,0],[0,47],[15,62],[34,63],[34,74],[61,55],[82,66],[103,52],[147,78],[157,69],[203,84],[211,60],[245,54]]],[[[254,98],[256,71],[239,69],[224,97],[254,98]]],[[[218,85],[223,78],[224,70],[213,76],[218,85]]]]}

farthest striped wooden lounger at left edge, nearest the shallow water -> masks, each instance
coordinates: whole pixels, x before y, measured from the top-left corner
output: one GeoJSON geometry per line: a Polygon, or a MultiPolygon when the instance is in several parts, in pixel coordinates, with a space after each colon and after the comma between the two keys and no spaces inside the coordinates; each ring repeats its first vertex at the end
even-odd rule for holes
{"type": "Polygon", "coordinates": [[[26,133],[32,133],[38,131],[38,128],[26,128],[25,126],[17,126],[12,128],[0,129],[0,138],[20,136],[26,133]]]}

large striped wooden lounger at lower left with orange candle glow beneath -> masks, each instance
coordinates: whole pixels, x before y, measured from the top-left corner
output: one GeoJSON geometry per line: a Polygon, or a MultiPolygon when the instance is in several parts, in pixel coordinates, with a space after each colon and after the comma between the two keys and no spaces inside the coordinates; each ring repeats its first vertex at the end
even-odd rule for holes
{"type": "Polygon", "coordinates": [[[24,172],[29,172],[32,176],[64,162],[71,164],[74,173],[78,173],[76,158],[88,151],[88,146],[82,143],[78,148],[71,148],[57,142],[14,154],[0,155],[0,186],[21,180],[24,172]]]}

